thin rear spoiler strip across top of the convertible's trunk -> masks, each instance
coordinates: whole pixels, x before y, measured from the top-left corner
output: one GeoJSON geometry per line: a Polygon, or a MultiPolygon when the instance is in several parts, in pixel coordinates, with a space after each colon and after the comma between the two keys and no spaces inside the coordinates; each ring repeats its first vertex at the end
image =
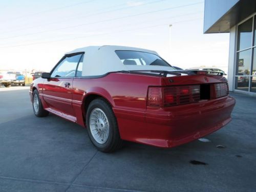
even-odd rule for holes
{"type": "Polygon", "coordinates": [[[120,71],[121,73],[133,73],[141,75],[152,75],[158,77],[167,77],[167,75],[181,76],[181,74],[187,75],[219,75],[223,76],[223,73],[216,71],[202,71],[202,70],[176,70],[176,71],[161,71],[161,70],[131,70],[120,71]]]}

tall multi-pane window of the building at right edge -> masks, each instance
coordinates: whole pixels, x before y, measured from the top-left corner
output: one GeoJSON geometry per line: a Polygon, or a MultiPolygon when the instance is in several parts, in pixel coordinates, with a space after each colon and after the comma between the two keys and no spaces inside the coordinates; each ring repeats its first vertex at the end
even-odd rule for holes
{"type": "Polygon", "coordinates": [[[236,90],[256,93],[256,15],[238,25],[236,90]]]}

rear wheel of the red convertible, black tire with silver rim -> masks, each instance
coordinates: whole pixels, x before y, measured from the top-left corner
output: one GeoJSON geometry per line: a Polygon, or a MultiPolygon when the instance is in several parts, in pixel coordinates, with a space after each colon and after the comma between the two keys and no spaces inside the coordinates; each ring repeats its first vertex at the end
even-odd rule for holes
{"type": "Polygon", "coordinates": [[[89,137],[99,151],[113,152],[122,146],[115,114],[104,99],[89,104],[86,124],[89,137]]]}

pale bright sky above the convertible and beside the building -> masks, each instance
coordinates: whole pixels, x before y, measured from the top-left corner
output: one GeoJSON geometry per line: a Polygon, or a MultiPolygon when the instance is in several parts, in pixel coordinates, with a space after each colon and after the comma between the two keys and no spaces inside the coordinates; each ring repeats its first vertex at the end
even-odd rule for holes
{"type": "Polygon", "coordinates": [[[229,33],[203,34],[203,17],[203,0],[1,0],[0,70],[50,71],[71,50],[118,45],[226,71],[229,33]]]}

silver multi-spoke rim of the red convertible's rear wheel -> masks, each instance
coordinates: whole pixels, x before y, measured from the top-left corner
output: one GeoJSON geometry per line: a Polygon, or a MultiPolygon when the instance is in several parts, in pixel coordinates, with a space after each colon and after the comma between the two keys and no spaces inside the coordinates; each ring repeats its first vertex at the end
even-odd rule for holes
{"type": "Polygon", "coordinates": [[[90,114],[90,131],[97,143],[103,144],[109,138],[109,121],[105,113],[95,108],[90,114]]]}

